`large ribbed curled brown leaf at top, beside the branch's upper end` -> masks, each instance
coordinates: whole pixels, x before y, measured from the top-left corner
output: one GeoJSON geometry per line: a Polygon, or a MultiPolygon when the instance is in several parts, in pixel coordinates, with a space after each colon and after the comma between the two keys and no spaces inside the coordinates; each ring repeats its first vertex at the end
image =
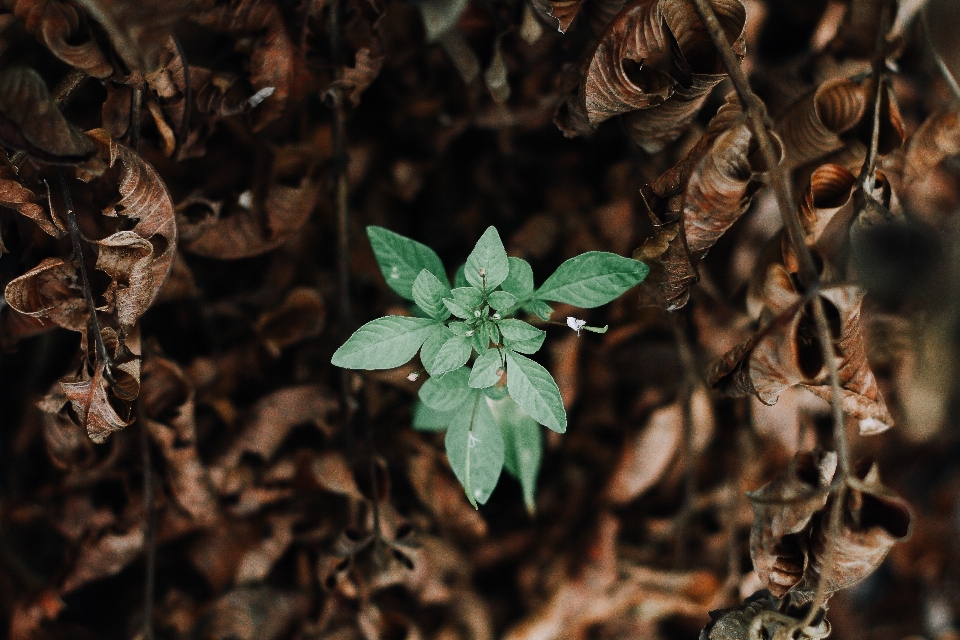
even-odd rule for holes
{"type": "MultiPolygon", "coordinates": [[[[741,0],[712,0],[736,53],[744,55],[741,0]]],[[[587,63],[576,98],[558,124],[586,133],[630,113],[631,137],[650,153],[678,138],[726,74],[693,6],[682,0],[634,0],[610,23],[587,63]]]]}

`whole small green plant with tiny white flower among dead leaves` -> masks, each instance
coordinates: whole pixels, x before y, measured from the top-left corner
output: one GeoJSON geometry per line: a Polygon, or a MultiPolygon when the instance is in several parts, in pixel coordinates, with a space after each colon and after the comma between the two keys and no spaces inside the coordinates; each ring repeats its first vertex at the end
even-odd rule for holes
{"type": "MultiPolygon", "coordinates": [[[[540,349],[546,332],[511,316],[522,311],[549,321],[548,301],[598,307],[642,282],[649,268],[590,251],[561,264],[535,288],[529,263],[508,257],[489,227],[451,288],[440,258],[426,245],[382,227],[367,227],[367,235],[387,284],[426,317],[368,322],[337,349],[333,364],[392,369],[419,351],[430,379],[420,388],[414,428],[447,430],[447,457],[474,507],[487,501],[506,467],[532,511],[542,454],[538,425],[563,433],[567,414],[553,377],[527,357],[540,349]]],[[[606,331],[576,318],[555,324],[578,334],[606,331]]]]}

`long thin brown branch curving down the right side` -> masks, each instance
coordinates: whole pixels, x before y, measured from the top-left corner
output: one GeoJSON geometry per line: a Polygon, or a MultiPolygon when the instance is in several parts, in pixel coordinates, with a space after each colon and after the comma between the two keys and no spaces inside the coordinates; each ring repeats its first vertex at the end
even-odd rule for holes
{"type": "MultiPolygon", "coordinates": [[[[770,139],[770,136],[767,133],[765,122],[767,120],[767,115],[763,102],[761,102],[756,94],[754,94],[750,89],[750,84],[747,81],[746,74],[744,74],[743,69],[740,67],[740,64],[736,58],[736,54],[731,48],[730,43],[723,32],[720,22],[713,11],[713,7],[710,6],[709,0],[691,1],[693,2],[697,14],[700,16],[701,21],[703,22],[704,26],[706,26],[707,32],[710,34],[710,38],[713,40],[714,46],[717,48],[717,51],[720,53],[720,56],[723,59],[724,65],[727,68],[727,72],[730,75],[730,80],[733,82],[733,86],[740,98],[741,103],[743,104],[744,111],[747,114],[750,126],[753,129],[754,135],[759,143],[760,153],[763,155],[766,165],[770,167],[770,172],[768,175],[771,177],[777,204],[780,208],[780,216],[783,220],[783,226],[787,231],[787,238],[793,249],[794,255],[797,257],[799,262],[800,269],[798,276],[800,283],[806,288],[807,294],[810,296],[813,305],[814,319],[817,326],[817,337],[820,342],[820,348],[823,353],[824,362],[827,365],[830,387],[832,391],[831,408],[833,414],[834,446],[837,449],[838,475],[836,478],[836,494],[834,496],[834,504],[831,511],[830,538],[831,540],[836,540],[839,536],[840,516],[842,516],[843,513],[843,501],[846,493],[846,487],[850,479],[850,454],[849,447],[847,445],[846,419],[844,416],[842,395],[840,391],[840,373],[837,367],[836,356],[833,349],[833,339],[830,335],[830,327],[827,322],[826,313],[824,312],[823,301],[820,296],[817,295],[820,286],[819,275],[816,267],[814,266],[813,257],[810,253],[810,250],[803,239],[803,228],[801,227],[800,220],[796,215],[796,207],[793,205],[793,198],[787,182],[787,176],[784,175],[784,172],[779,167],[776,153],[774,152],[773,141],[770,139]]],[[[881,24],[881,33],[883,32],[882,26],[883,25],[881,24]]],[[[825,564],[832,563],[833,556],[834,545],[827,545],[824,558],[825,564]]],[[[825,585],[821,581],[821,583],[817,585],[817,590],[806,619],[799,623],[798,629],[806,628],[813,622],[813,618],[825,603],[826,597],[825,585]]]]}

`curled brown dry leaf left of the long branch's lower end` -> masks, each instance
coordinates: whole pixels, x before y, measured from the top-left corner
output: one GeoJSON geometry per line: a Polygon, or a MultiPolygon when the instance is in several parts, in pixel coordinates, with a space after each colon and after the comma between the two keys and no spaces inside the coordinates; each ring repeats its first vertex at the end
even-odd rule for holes
{"type": "Polygon", "coordinates": [[[803,580],[813,516],[827,504],[837,455],[798,453],[790,466],[747,494],[753,506],[750,558],[760,581],[776,597],[803,580]]]}

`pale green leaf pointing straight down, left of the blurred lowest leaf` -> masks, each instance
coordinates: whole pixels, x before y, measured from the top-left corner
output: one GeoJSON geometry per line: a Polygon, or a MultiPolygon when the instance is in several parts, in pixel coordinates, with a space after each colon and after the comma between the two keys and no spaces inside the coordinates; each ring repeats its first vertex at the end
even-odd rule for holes
{"type": "Polygon", "coordinates": [[[486,399],[474,392],[472,416],[468,425],[454,421],[445,440],[450,467],[457,476],[470,503],[476,508],[493,493],[503,469],[503,435],[486,399]]]}

